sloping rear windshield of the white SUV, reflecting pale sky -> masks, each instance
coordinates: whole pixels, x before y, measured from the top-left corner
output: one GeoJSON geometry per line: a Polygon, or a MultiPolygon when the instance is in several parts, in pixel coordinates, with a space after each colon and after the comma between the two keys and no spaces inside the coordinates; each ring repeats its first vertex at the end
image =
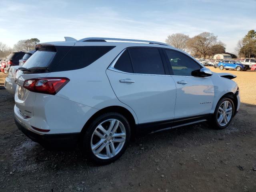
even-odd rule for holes
{"type": "Polygon", "coordinates": [[[23,65],[24,68],[47,68],[56,54],[54,46],[47,46],[37,50],[23,65]]]}

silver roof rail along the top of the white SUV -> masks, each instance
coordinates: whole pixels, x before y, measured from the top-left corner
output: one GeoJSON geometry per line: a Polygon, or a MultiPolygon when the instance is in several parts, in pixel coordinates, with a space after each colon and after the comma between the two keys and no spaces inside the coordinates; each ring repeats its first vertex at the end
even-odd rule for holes
{"type": "Polygon", "coordinates": [[[156,42],[156,41],[147,41],[147,40],[138,40],[138,39],[118,39],[118,38],[103,38],[103,37],[88,37],[84,39],[78,40],[78,42],[104,42],[106,40],[112,40],[112,41],[132,41],[132,42],[144,42],[144,43],[150,43],[150,44],[158,44],[158,45],[166,45],[168,44],[156,42]]]}

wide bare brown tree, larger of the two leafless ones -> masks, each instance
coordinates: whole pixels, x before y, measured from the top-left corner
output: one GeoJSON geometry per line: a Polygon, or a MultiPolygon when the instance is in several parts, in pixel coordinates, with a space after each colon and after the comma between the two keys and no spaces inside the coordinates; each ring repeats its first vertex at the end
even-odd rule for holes
{"type": "Polygon", "coordinates": [[[202,32],[199,35],[190,38],[187,42],[188,49],[194,55],[214,55],[218,53],[224,53],[226,48],[225,44],[217,40],[217,36],[214,36],[210,32],[202,32]]]}

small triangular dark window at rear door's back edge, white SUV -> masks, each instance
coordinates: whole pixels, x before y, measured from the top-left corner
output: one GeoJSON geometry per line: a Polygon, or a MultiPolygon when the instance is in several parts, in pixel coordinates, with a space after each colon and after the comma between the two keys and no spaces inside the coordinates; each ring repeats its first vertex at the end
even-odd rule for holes
{"type": "Polygon", "coordinates": [[[124,72],[128,72],[128,73],[133,72],[132,63],[130,60],[128,50],[125,50],[123,52],[123,54],[120,56],[120,58],[117,60],[117,62],[115,64],[115,68],[120,71],[124,71],[124,72]]]}

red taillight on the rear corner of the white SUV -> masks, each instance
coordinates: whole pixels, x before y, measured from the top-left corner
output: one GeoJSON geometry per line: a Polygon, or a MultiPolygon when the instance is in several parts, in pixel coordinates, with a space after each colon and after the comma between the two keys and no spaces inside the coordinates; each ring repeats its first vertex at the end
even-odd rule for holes
{"type": "Polygon", "coordinates": [[[32,92],[55,95],[68,82],[65,77],[34,78],[25,80],[23,86],[32,92]]]}

